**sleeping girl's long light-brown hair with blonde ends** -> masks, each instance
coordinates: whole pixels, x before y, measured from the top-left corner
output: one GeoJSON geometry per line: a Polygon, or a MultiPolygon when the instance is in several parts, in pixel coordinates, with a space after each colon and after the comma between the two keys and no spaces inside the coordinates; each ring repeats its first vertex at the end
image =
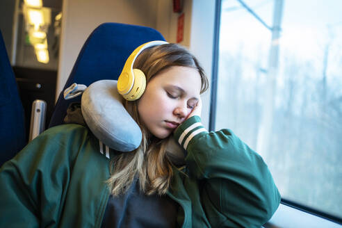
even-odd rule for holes
{"type": "MultiPolygon", "coordinates": [[[[136,58],[133,68],[140,69],[146,76],[146,83],[162,70],[172,66],[193,67],[201,76],[201,94],[209,82],[198,60],[178,44],[163,44],[142,51],[136,58]]],[[[125,101],[124,106],[141,131],[142,142],[133,152],[118,154],[111,162],[111,177],[107,184],[113,195],[126,193],[133,179],[138,178],[140,190],[146,195],[163,195],[170,187],[172,164],[166,156],[168,138],[158,139],[149,133],[138,113],[138,100],[125,101]]]]}

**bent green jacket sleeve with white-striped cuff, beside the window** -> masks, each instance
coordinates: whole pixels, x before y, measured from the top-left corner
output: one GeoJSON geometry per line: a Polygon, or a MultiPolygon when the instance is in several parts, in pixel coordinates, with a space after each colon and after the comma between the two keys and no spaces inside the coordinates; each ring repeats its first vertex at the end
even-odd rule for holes
{"type": "Polygon", "coordinates": [[[272,175],[261,156],[232,131],[209,133],[200,117],[193,116],[174,138],[188,152],[190,176],[204,183],[204,210],[225,218],[220,227],[261,227],[272,217],[280,202],[272,175]]]}

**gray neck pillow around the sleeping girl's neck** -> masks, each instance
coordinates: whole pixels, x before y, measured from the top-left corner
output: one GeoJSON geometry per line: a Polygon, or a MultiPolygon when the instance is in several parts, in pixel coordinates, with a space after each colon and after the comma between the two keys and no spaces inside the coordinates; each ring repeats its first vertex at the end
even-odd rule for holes
{"type": "MultiPolygon", "coordinates": [[[[117,81],[96,81],[84,90],[81,111],[90,131],[101,142],[117,151],[130,152],[139,147],[142,133],[123,101],[117,92],[117,81]]],[[[184,163],[186,151],[173,137],[169,138],[167,154],[176,165],[184,163]]]]}

